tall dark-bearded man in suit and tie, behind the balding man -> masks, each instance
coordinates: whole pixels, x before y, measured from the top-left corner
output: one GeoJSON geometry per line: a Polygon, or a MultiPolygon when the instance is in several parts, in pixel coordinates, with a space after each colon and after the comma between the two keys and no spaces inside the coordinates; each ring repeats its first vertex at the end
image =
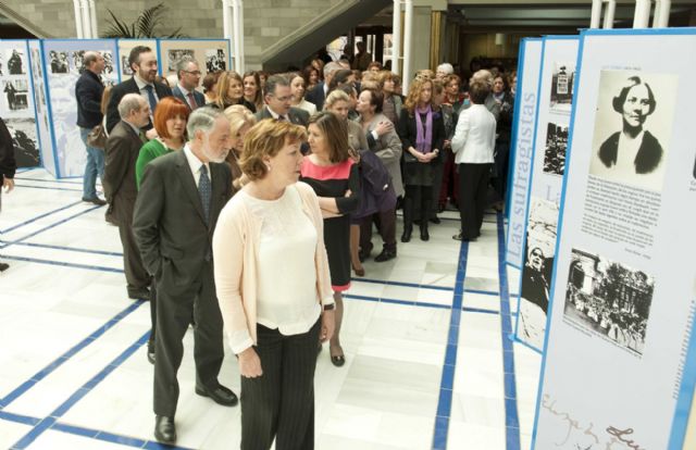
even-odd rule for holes
{"type": "MultiPolygon", "coordinates": [[[[157,103],[164,97],[172,95],[172,89],[161,83],[157,83],[157,55],[149,47],[137,46],[128,55],[128,64],[133,70],[133,77],[117,84],[111,90],[111,100],[107,107],[107,130],[111,133],[121,120],[119,115],[119,103],[126,93],[139,93],[150,105],[151,114],[154,114],[157,103]]],[[[157,132],[152,127],[152,121],[148,121],[146,126],[147,138],[152,139],[157,132]]]]}

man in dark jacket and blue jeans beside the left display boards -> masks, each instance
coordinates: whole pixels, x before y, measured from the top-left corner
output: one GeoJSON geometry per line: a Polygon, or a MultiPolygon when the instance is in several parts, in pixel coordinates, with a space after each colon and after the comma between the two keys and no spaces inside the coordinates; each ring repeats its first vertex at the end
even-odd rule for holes
{"type": "Polygon", "coordinates": [[[79,136],[87,149],[87,164],[83,179],[83,201],[103,205],[105,201],[97,197],[97,175],[104,177],[104,151],[87,145],[87,135],[94,127],[101,124],[103,114],[101,113],[101,96],[104,85],[99,75],[104,70],[105,62],[101,54],[96,51],[85,52],[83,60],[85,72],[75,84],[75,100],[77,100],[77,126],[79,136]]]}

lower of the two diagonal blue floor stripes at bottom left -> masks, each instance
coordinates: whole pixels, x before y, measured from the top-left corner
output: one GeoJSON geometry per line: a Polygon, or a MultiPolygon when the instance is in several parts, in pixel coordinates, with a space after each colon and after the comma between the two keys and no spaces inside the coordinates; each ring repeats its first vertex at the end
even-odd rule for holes
{"type": "MultiPolygon", "coordinates": [[[[48,417],[39,422],[29,433],[24,435],[11,448],[14,450],[23,450],[32,445],[39,436],[47,430],[51,429],[57,421],[63,416],[71,408],[73,408],[79,400],[82,400],[87,393],[89,393],[99,383],[103,382],[113,371],[115,371],[121,364],[123,364],[133,353],[135,353],[140,347],[142,347],[150,336],[150,332],[146,332],[138,338],[133,345],[125,349],[120,355],[117,355],[109,365],[102,368],[97,375],[83,385],[77,391],[75,391],[67,400],[61,403],[48,417]]],[[[115,436],[115,435],[113,435],[115,436]]],[[[129,440],[136,440],[130,439],[129,440]]],[[[138,443],[139,443],[139,439],[138,443]]],[[[126,440],[127,441],[127,440],[126,440]]],[[[126,445],[129,445],[128,442],[126,445]]]]}

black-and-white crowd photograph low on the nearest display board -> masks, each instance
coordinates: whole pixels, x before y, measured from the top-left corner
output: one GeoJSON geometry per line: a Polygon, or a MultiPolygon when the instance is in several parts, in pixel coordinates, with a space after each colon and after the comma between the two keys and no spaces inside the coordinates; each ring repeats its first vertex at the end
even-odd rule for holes
{"type": "Polygon", "coordinates": [[[593,252],[573,249],[563,314],[617,346],[643,354],[655,279],[593,252]]]}

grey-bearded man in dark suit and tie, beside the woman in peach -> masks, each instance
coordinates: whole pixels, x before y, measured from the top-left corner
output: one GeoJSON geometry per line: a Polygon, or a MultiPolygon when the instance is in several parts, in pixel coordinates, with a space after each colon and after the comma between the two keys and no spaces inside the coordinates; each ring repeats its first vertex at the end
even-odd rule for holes
{"type": "Polygon", "coordinates": [[[217,380],[223,321],[212,260],[215,223],[232,197],[232,175],[224,163],[229,121],[221,111],[199,108],[186,128],[190,140],[184,150],[145,167],[133,222],[142,260],[157,283],[154,437],[166,443],[176,441],[176,373],[191,315],[196,393],[226,407],[237,403],[235,393],[217,380]]]}

